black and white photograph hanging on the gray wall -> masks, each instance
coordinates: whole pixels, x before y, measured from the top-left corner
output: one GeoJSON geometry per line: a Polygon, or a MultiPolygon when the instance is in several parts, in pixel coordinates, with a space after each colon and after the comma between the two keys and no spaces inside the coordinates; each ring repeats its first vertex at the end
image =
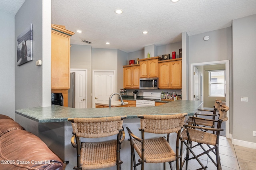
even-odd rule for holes
{"type": "Polygon", "coordinates": [[[33,26],[24,30],[17,37],[17,65],[22,65],[33,60],[33,26]]]}

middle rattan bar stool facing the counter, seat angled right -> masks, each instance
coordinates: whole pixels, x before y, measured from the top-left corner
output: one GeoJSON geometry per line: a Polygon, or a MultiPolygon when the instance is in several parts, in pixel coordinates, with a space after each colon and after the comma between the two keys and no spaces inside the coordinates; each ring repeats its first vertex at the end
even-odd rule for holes
{"type": "Polygon", "coordinates": [[[177,115],[138,115],[140,118],[141,138],[135,136],[131,130],[127,128],[130,136],[131,145],[131,170],[137,170],[137,166],[141,165],[144,170],[144,163],[164,163],[169,162],[171,170],[173,169],[171,162],[176,161],[176,169],[179,169],[179,136],[181,128],[184,124],[187,113],[177,115]],[[145,138],[145,132],[154,134],[167,134],[165,137],[145,138]],[[169,144],[170,133],[177,132],[176,150],[172,150],[169,144]],[[135,151],[140,156],[138,164],[135,161],[135,151]]]}

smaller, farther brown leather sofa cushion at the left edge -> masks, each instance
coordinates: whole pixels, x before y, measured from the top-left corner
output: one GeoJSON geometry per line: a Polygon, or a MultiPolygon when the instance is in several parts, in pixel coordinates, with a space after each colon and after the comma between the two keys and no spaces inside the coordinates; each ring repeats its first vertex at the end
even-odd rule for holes
{"type": "Polygon", "coordinates": [[[20,124],[12,119],[0,119],[0,137],[7,132],[17,129],[25,130],[20,124]]]}

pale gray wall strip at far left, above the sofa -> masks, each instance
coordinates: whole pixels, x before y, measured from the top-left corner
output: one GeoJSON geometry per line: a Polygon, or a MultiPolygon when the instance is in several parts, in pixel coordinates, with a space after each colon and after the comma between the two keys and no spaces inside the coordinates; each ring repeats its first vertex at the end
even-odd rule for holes
{"type": "Polygon", "coordinates": [[[7,115],[14,119],[15,110],[15,37],[14,37],[14,16],[0,11],[0,51],[1,51],[1,75],[0,75],[0,114],[7,115]]]}

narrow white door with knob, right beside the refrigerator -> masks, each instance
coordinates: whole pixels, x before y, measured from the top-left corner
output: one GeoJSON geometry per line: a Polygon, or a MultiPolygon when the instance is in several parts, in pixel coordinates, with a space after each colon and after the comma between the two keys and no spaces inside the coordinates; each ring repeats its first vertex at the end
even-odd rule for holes
{"type": "Polygon", "coordinates": [[[75,72],[75,108],[87,108],[87,69],[70,69],[70,72],[75,72]]]}

